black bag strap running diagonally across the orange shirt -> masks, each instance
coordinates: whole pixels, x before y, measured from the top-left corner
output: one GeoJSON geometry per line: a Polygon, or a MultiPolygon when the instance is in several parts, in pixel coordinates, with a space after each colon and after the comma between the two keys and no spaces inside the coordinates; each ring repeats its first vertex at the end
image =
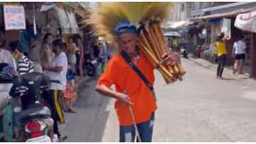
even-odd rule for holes
{"type": "Polygon", "coordinates": [[[144,74],[142,74],[142,72],[138,69],[138,67],[136,67],[136,65],[134,65],[134,62],[132,62],[131,57],[127,54],[127,52],[122,50],[120,52],[120,55],[124,58],[125,62],[127,62],[127,64],[130,67],[132,67],[132,70],[134,70],[134,72],[136,72],[138,74],[138,76],[142,79],[144,84],[146,84],[146,87],[149,87],[151,92],[153,92],[153,94],[154,94],[154,87],[152,86],[152,84],[150,84],[149,80],[146,79],[146,77],[144,76],[144,74]]]}

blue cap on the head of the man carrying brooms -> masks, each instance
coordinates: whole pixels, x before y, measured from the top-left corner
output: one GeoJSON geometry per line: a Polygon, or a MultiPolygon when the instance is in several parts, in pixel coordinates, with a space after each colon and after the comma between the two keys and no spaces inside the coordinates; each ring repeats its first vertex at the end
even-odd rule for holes
{"type": "Polygon", "coordinates": [[[117,36],[120,36],[123,33],[130,33],[130,34],[137,33],[136,26],[127,20],[119,21],[117,23],[117,26],[114,28],[114,34],[117,36]]]}

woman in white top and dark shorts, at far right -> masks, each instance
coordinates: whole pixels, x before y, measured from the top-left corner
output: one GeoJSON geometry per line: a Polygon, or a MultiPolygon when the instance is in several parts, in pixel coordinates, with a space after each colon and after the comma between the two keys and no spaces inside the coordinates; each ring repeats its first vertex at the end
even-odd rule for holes
{"type": "Polygon", "coordinates": [[[235,64],[233,74],[242,74],[242,60],[245,60],[246,45],[242,40],[243,36],[239,35],[238,40],[233,45],[233,54],[235,53],[235,64]]]}

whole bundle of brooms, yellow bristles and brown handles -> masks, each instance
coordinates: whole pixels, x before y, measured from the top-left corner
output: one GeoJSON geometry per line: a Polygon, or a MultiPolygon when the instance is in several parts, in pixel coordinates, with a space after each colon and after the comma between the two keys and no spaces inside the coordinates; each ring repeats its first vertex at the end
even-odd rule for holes
{"type": "Polygon", "coordinates": [[[137,46],[146,57],[161,72],[166,84],[182,80],[186,73],[181,64],[165,67],[162,65],[162,55],[169,52],[161,31],[160,23],[169,17],[171,3],[145,3],[145,2],[113,2],[101,3],[91,11],[90,18],[85,19],[94,27],[95,33],[114,41],[114,27],[119,21],[127,19],[136,26],[142,26],[137,46]]]}

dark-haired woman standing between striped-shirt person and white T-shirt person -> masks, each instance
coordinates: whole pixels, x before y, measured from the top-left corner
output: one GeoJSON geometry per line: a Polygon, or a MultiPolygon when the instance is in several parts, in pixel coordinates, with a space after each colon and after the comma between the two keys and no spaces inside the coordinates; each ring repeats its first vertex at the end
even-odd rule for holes
{"type": "Polygon", "coordinates": [[[52,43],[53,35],[51,33],[46,33],[46,35],[43,37],[43,43],[40,50],[42,66],[50,65],[50,62],[53,60],[53,57],[55,56],[51,48],[52,43]]]}

